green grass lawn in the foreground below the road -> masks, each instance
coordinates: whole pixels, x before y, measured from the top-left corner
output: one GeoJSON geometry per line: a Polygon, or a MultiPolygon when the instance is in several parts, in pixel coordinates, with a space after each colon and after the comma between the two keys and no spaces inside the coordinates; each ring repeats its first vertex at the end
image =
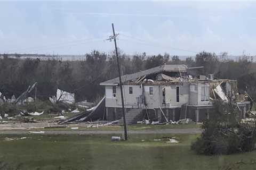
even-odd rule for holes
{"type": "Polygon", "coordinates": [[[256,168],[256,151],[196,155],[190,150],[190,143],[198,137],[194,134],[133,134],[129,141],[120,142],[111,142],[110,137],[0,135],[0,169],[228,169],[241,161],[245,164],[232,169],[256,168]],[[166,143],[163,137],[176,137],[179,143],[166,143]]]}

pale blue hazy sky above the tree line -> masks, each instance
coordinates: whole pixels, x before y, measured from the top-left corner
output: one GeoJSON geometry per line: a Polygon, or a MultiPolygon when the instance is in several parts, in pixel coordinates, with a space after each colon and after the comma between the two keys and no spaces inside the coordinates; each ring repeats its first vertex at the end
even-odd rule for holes
{"type": "Polygon", "coordinates": [[[256,55],[256,2],[0,2],[0,53],[256,55]]]}

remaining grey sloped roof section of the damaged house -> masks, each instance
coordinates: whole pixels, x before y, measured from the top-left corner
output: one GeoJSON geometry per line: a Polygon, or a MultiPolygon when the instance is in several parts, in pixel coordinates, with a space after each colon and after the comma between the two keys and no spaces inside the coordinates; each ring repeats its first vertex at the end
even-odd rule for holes
{"type": "MultiPolygon", "coordinates": [[[[126,74],[121,77],[122,82],[130,81],[130,80],[136,80],[144,75],[150,75],[154,73],[160,73],[160,72],[187,72],[188,67],[184,64],[165,64],[161,66],[157,66],[148,70],[140,71],[133,74],[126,74]]],[[[100,85],[114,85],[119,83],[119,78],[107,80],[105,82],[101,82],[100,85]]]]}

